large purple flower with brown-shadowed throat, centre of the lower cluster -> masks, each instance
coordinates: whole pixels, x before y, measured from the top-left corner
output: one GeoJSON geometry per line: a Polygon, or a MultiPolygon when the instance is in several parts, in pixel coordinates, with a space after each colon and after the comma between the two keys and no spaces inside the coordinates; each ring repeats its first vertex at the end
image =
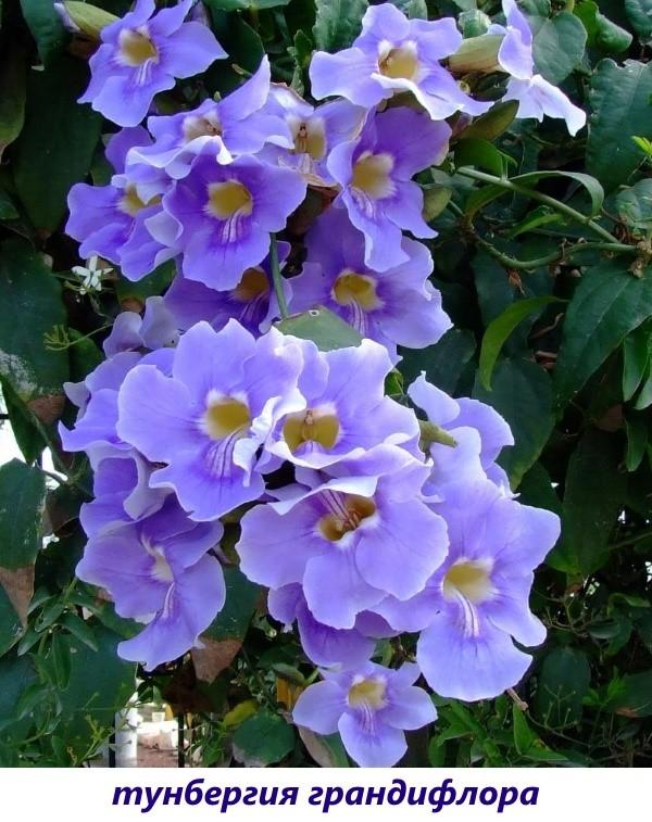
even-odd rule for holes
{"type": "Polygon", "coordinates": [[[310,488],[249,510],[237,551],[250,580],[301,584],[317,621],[350,629],[386,593],[423,591],[447,536],[421,498],[428,468],[406,452],[379,445],[337,468],[334,479],[303,472],[310,488]]]}

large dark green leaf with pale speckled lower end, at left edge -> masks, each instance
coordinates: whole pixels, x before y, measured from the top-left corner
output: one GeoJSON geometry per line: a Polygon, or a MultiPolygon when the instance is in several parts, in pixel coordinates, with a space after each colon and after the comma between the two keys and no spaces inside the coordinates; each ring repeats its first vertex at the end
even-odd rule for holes
{"type": "Polygon", "coordinates": [[[0,377],[24,403],[61,396],[66,353],[43,346],[43,334],[66,319],[61,287],[23,240],[8,240],[0,251],[0,304],[11,305],[0,319],[0,377]]]}

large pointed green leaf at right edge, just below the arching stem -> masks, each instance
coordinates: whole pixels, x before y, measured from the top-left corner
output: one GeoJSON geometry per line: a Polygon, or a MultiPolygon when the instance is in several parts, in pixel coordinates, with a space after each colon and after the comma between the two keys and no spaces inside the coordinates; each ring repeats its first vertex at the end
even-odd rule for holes
{"type": "Polygon", "coordinates": [[[613,260],[587,268],[575,290],[554,369],[559,408],[630,331],[652,316],[652,268],[639,278],[625,266],[613,260]]]}

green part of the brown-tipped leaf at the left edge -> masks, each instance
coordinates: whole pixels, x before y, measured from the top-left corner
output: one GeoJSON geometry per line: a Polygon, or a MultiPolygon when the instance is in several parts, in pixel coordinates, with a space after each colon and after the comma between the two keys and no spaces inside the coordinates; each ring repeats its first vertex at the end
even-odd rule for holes
{"type": "Polygon", "coordinates": [[[0,566],[33,565],[41,547],[46,478],[18,459],[0,466],[0,566]]]}

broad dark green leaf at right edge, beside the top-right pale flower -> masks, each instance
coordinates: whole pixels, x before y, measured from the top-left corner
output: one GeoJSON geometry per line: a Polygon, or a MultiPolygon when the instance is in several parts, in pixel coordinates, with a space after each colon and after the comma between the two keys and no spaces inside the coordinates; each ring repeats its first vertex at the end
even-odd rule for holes
{"type": "Polygon", "coordinates": [[[652,64],[599,63],[591,78],[587,170],[611,191],[626,182],[644,154],[630,138],[650,130],[652,64]]]}

